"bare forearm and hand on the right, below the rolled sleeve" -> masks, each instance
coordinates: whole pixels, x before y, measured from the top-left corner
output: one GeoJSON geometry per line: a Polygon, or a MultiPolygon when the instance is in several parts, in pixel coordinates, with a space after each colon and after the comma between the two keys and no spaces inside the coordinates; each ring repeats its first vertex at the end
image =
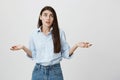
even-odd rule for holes
{"type": "Polygon", "coordinates": [[[71,56],[73,54],[73,52],[78,48],[89,48],[90,46],[92,46],[92,44],[88,43],[88,42],[78,42],[76,43],[70,50],[69,50],[69,56],[71,56]]]}

